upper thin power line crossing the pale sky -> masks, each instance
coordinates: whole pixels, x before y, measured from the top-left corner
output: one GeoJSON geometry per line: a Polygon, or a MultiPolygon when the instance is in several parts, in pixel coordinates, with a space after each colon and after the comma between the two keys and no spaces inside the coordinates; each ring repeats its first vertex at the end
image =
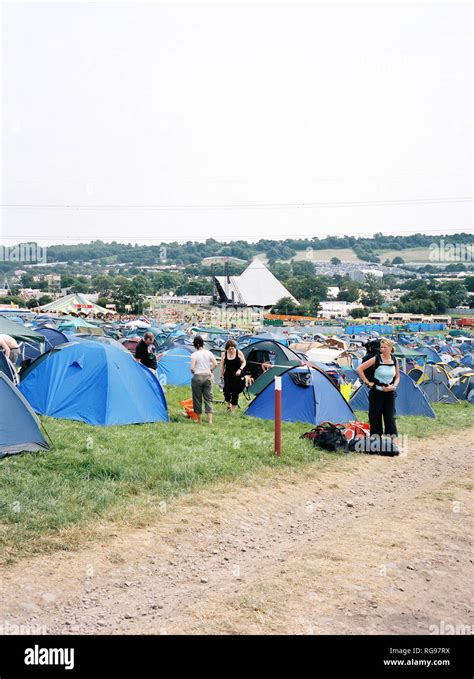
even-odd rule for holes
{"type": "Polygon", "coordinates": [[[395,205],[437,205],[439,203],[472,202],[472,196],[451,198],[404,198],[396,200],[328,201],[302,203],[228,203],[228,204],[74,204],[74,203],[9,203],[0,205],[4,210],[292,210],[344,207],[390,207],[395,205]]]}

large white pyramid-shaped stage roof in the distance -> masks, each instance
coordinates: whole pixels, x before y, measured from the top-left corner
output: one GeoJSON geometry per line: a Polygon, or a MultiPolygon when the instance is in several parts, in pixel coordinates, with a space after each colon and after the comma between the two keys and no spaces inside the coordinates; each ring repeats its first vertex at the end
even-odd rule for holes
{"type": "Polygon", "coordinates": [[[260,259],[248,265],[240,276],[216,276],[229,301],[246,306],[273,306],[283,297],[290,297],[296,304],[298,301],[275,278],[272,272],[260,259]]]}

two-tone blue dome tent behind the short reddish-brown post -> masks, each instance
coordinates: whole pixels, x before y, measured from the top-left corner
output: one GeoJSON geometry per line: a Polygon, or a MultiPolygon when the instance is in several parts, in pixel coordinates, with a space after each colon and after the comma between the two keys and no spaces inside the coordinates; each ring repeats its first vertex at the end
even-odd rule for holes
{"type": "MultiPolygon", "coordinates": [[[[329,377],[314,368],[290,368],[281,376],[282,420],[284,422],[350,422],[355,419],[352,408],[329,377]],[[308,376],[308,386],[295,384],[292,376],[308,376]]],[[[275,404],[274,382],[252,401],[245,414],[262,420],[273,420],[275,404]]]]}

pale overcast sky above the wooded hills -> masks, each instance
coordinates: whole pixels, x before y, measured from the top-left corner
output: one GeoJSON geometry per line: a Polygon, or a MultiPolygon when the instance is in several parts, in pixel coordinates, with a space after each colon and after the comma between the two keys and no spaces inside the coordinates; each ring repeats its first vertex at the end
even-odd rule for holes
{"type": "Polygon", "coordinates": [[[471,11],[5,4],[0,241],[469,230],[471,11]]]}

